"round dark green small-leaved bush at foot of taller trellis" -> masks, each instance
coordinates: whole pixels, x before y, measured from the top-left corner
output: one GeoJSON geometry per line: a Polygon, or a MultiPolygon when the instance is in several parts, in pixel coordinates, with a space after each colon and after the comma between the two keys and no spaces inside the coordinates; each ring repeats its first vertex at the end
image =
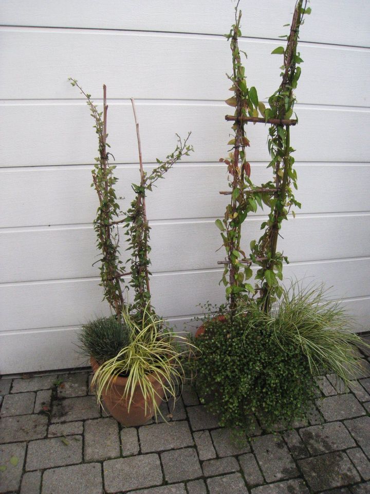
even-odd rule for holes
{"type": "Polygon", "coordinates": [[[247,432],[254,417],[264,428],[303,418],[316,396],[317,383],[301,348],[266,326],[256,306],[244,314],[211,319],[198,338],[193,359],[195,386],[219,425],[247,432]]]}

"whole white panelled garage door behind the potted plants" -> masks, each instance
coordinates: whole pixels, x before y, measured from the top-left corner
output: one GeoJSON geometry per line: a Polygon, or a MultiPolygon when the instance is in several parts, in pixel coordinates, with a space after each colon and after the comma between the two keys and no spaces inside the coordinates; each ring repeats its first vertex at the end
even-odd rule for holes
{"type": "MultiPolygon", "coordinates": [[[[241,48],[249,85],[267,98],[279,84],[281,44],[294,0],[242,0],[241,48]]],[[[368,102],[370,4],[311,0],[301,30],[305,60],[292,145],[303,208],[284,225],[287,277],[323,280],[369,329],[370,166],[368,102]]],[[[227,0],[3,0],[0,5],[0,373],[82,364],[76,331],[106,313],[91,227],[97,198],[91,163],[93,121],[71,76],[101,103],[108,88],[109,143],[118,193],[138,180],[136,98],[145,166],[192,130],[195,153],[147,200],[152,225],[154,305],[182,329],[197,304],[221,303],[220,245],[230,124],[223,102],[231,69],[227,0]]],[[[255,183],[268,171],[267,128],[248,126],[255,183]]],[[[245,242],[264,211],[248,219],[245,242]]]]}

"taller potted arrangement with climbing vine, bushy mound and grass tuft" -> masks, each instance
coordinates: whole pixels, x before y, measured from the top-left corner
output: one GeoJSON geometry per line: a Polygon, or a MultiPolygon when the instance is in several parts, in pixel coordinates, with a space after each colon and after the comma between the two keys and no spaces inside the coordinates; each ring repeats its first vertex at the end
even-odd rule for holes
{"type": "Polygon", "coordinates": [[[238,37],[241,12],[235,9],[235,24],[226,35],[231,44],[233,74],[229,76],[234,96],[226,102],[235,108],[232,151],[225,162],[229,171],[230,203],[224,218],[216,220],[226,250],[221,282],[227,302],[210,313],[197,332],[199,349],[193,360],[196,388],[200,399],[219,417],[221,426],[249,428],[257,416],[265,428],[276,422],[291,423],[302,418],[316,396],[315,377],[322,371],[334,372],[345,382],[358,371],[356,346],[361,339],[349,332],[349,320],[337,302],[328,301],[320,286],[304,288],[292,283],[284,288],[283,262],[277,251],[282,223],[292,206],[300,207],[293,188],[297,173],[293,168],[290,127],[295,97],[293,90],[301,74],[297,51],[303,17],[310,13],[307,2],[298,0],[294,8],[286,47],[273,54],[283,55],[282,82],[269,98],[269,108],[258,101],[254,87],[248,89],[241,62],[238,37]],[[260,112],[261,116],[258,115],[260,112]],[[250,145],[244,126],[248,122],[269,124],[268,149],[273,173],[271,181],[255,186],[250,179],[246,149],[250,145]],[[241,226],[250,211],[266,205],[263,235],[250,243],[250,254],[241,248],[241,226]],[[256,283],[251,265],[257,267],[256,283]]]}

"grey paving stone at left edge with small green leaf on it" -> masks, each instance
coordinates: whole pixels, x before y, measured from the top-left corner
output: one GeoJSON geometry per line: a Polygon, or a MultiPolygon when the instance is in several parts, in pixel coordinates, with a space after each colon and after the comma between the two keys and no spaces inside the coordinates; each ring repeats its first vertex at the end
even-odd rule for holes
{"type": "Polygon", "coordinates": [[[25,443],[4,444],[0,446],[0,465],[5,467],[4,471],[0,471],[1,492],[18,490],[21,483],[25,453],[25,443]],[[16,457],[18,460],[16,465],[10,462],[13,456],[14,459],[16,457]]]}

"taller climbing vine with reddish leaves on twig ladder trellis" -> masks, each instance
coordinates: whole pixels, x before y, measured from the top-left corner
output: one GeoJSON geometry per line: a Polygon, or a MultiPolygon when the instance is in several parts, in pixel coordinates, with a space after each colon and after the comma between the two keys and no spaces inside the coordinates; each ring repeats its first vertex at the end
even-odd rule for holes
{"type": "MultiPolygon", "coordinates": [[[[298,66],[303,60],[297,52],[299,29],[303,24],[303,17],[310,13],[307,1],[298,0],[294,7],[293,19],[287,38],[287,46],[280,46],[272,54],[283,54],[282,82],[278,91],[269,98],[269,108],[258,100],[254,86],[248,89],[245,78],[245,67],[241,62],[241,50],[238,47],[238,38],[241,37],[242,12],[235,7],[235,24],[225,37],[230,41],[232,52],[233,74],[228,76],[232,81],[231,91],[234,96],[226,103],[235,107],[234,115],[226,115],[226,120],[233,121],[234,138],[229,141],[232,150],[228,158],[221,158],[229,172],[229,191],[221,194],[231,195],[230,203],[226,207],[223,220],[217,219],[216,225],[221,231],[221,237],[226,250],[224,273],[222,282],[226,287],[226,297],[231,315],[246,299],[257,296],[257,302],[264,311],[269,311],[271,304],[282,294],[278,279],[282,280],[283,261],[288,262],[286,256],[276,251],[279,231],[282,221],[287,219],[291,206],[300,207],[295,200],[292,188],[297,189],[297,172],[293,169],[293,149],[290,146],[290,126],[297,120],[291,119],[295,96],[293,90],[297,87],[301,75],[298,66]],[[261,116],[259,116],[259,114],[261,116]],[[256,186],[250,179],[250,164],[246,157],[246,147],[250,146],[244,126],[248,123],[269,123],[268,150],[271,161],[268,167],[272,168],[273,179],[256,186]],[[241,249],[242,224],[251,212],[256,212],[263,204],[270,208],[268,220],[264,221],[261,229],[265,229],[261,238],[250,243],[251,253],[246,255],[241,249]],[[252,275],[251,264],[260,268],[255,279],[256,286],[248,281],[252,275]],[[275,273],[276,272],[276,273],[275,273]]],[[[244,52],[243,52],[244,53],[244,52]]]]}

